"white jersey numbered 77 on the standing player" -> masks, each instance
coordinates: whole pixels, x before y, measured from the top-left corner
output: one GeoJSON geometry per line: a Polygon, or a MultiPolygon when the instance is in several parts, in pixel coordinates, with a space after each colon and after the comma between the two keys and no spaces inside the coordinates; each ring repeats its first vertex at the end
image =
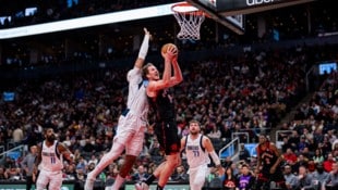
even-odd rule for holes
{"type": "Polygon", "coordinates": [[[191,139],[190,135],[186,138],[185,155],[190,168],[195,168],[210,163],[208,152],[201,147],[202,138],[203,135],[201,134],[194,140],[191,139]]]}

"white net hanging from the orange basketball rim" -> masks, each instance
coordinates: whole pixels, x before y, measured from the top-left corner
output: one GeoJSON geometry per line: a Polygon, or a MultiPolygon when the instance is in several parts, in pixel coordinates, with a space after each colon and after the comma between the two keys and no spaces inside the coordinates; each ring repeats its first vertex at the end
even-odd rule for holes
{"type": "Polygon", "coordinates": [[[192,11],[190,13],[174,11],[173,15],[181,26],[181,30],[178,34],[179,39],[193,39],[200,40],[200,29],[205,14],[198,11],[192,11]]]}

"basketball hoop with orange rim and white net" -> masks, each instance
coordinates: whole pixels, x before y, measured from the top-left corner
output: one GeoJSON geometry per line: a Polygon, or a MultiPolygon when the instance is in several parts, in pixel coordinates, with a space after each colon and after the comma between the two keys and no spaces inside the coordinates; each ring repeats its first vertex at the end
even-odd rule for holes
{"type": "Polygon", "coordinates": [[[200,29],[205,20],[205,12],[189,4],[188,2],[173,4],[171,10],[181,27],[181,30],[177,37],[179,39],[200,40],[200,29]]]}

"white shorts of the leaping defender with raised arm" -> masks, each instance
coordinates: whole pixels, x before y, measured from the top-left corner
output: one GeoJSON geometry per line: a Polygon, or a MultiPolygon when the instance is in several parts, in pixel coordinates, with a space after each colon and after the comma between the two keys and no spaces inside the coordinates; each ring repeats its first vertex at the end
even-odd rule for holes
{"type": "Polygon", "coordinates": [[[138,156],[143,149],[145,128],[146,122],[140,116],[130,113],[121,115],[113,142],[125,144],[126,154],[138,156]]]}

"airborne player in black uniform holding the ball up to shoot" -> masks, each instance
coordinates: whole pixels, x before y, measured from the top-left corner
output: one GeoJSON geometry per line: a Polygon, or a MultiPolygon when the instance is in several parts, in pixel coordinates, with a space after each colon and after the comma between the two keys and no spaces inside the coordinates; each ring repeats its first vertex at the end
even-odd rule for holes
{"type": "Polygon", "coordinates": [[[161,149],[166,153],[166,161],[143,182],[136,183],[136,190],[145,190],[158,178],[157,190],[162,190],[177,166],[180,164],[180,137],[176,123],[176,111],[172,94],[169,87],[173,87],[183,80],[181,68],[178,64],[178,49],[169,47],[162,52],[165,71],[159,78],[158,69],[153,64],[144,66],[144,75],[148,79],[147,96],[150,107],[156,114],[155,132],[161,149]],[[171,76],[173,68],[173,76],[171,76]]]}

